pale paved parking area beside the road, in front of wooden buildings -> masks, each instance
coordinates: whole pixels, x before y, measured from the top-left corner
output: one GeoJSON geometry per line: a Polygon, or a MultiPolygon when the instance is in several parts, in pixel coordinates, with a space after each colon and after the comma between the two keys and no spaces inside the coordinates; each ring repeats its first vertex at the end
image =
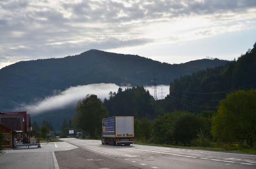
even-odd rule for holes
{"type": "Polygon", "coordinates": [[[6,149],[0,154],[0,169],[59,169],[54,151],[66,151],[78,147],[67,142],[41,143],[36,146],[6,149]]]}

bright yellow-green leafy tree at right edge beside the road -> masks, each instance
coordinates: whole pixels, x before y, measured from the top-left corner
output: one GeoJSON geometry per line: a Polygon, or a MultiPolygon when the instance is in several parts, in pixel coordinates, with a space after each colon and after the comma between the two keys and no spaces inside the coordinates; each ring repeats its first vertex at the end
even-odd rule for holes
{"type": "Polygon", "coordinates": [[[214,138],[224,142],[246,141],[253,147],[256,141],[256,93],[238,90],[227,94],[213,117],[214,138]]]}

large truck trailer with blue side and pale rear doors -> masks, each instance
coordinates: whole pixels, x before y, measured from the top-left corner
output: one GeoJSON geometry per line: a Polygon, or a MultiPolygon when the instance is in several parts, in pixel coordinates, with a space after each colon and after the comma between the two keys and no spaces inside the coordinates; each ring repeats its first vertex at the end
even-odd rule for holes
{"type": "Polygon", "coordinates": [[[102,119],[103,145],[130,145],[134,141],[134,116],[112,116],[102,119]]]}

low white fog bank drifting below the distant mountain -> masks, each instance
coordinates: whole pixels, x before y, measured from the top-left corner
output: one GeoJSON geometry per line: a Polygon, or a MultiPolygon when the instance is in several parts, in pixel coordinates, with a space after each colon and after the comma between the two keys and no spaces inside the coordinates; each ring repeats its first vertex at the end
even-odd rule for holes
{"type": "MultiPolygon", "coordinates": [[[[127,86],[121,86],[122,89],[130,88],[127,86]]],[[[150,92],[150,95],[154,96],[154,87],[148,86],[144,87],[150,92]]],[[[157,97],[161,99],[161,89],[163,89],[164,97],[168,93],[169,86],[158,86],[157,87],[157,97]]],[[[95,94],[102,101],[104,98],[108,99],[108,94],[110,91],[117,92],[119,86],[109,83],[99,83],[91,85],[83,85],[70,87],[65,91],[55,91],[53,96],[49,96],[41,101],[38,101],[33,104],[23,105],[18,108],[19,111],[27,111],[30,114],[43,113],[45,111],[51,111],[56,109],[63,109],[72,105],[76,105],[78,100],[85,98],[87,94],[95,94]]]]}

